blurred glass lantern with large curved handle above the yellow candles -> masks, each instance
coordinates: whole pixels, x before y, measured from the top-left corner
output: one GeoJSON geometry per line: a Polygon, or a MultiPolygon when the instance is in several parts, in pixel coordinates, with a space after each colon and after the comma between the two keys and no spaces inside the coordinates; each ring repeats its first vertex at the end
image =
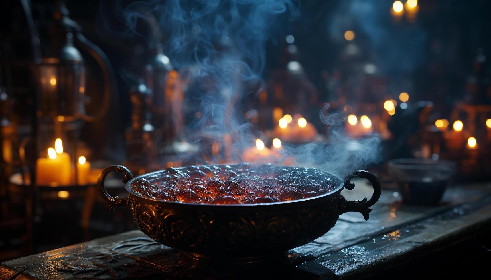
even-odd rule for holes
{"type": "MultiPolygon", "coordinates": [[[[82,28],[68,18],[68,9],[57,1],[52,22],[48,25],[49,38],[42,58],[37,63],[39,75],[38,116],[44,119],[73,122],[77,119],[94,121],[101,118],[108,109],[109,97],[114,87],[112,70],[104,52],[88,41],[82,28]],[[81,46],[99,63],[104,76],[102,107],[96,116],[85,114],[85,67],[82,54],[74,46],[74,37],[81,46]]],[[[43,38],[44,39],[44,38],[43,38]]]]}

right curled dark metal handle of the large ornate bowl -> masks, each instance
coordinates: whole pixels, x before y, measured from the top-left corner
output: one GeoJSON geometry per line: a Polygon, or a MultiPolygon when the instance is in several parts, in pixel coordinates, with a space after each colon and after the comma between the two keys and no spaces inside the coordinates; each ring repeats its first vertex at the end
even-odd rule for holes
{"type": "Polygon", "coordinates": [[[373,196],[372,198],[370,198],[369,201],[367,201],[367,198],[364,198],[362,201],[347,201],[343,196],[341,196],[342,201],[340,214],[346,212],[360,212],[363,215],[363,218],[365,218],[365,221],[368,221],[369,213],[372,211],[372,209],[368,207],[372,206],[379,200],[380,195],[382,194],[382,187],[380,185],[379,179],[377,179],[375,175],[365,170],[358,170],[348,174],[344,178],[344,187],[346,189],[352,190],[355,187],[355,184],[352,184],[350,182],[350,180],[353,178],[368,179],[373,187],[373,196]]]}

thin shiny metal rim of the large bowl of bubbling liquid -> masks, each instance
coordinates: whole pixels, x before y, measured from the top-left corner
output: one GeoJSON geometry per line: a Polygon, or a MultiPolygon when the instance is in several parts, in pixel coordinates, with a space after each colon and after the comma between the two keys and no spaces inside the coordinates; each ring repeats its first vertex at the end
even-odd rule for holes
{"type": "MultiPolygon", "coordinates": [[[[207,165],[199,165],[199,166],[220,166],[220,165],[233,165],[233,164],[207,164],[207,165]]],[[[184,169],[186,167],[188,167],[188,166],[177,167],[176,169],[184,169]]],[[[129,180],[125,184],[125,189],[129,194],[134,195],[137,198],[142,198],[142,199],[152,201],[152,202],[157,202],[157,203],[174,204],[174,205],[196,205],[196,206],[204,206],[204,207],[218,207],[218,206],[251,207],[251,206],[259,206],[259,205],[285,205],[285,204],[292,204],[292,203],[301,203],[301,202],[305,202],[305,201],[314,201],[314,200],[321,199],[321,198],[328,198],[330,196],[334,196],[335,193],[341,192],[341,190],[343,189],[343,185],[344,185],[344,181],[341,177],[322,170],[322,172],[328,174],[329,176],[333,176],[334,178],[338,179],[340,182],[339,185],[336,188],[334,188],[333,190],[331,190],[330,192],[327,192],[325,194],[318,195],[315,197],[309,197],[309,198],[304,198],[304,199],[299,199],[299,200],[269,202],[269,203],[255,203],[255,204],[207,204],[207,203],[187,203],[187,202],[177,202],[177,201],[166,201],[166,200],[153,199],[153,198],[149,198],[149,197],[143,197],[143,196],[140,196],[139,194],[137,194],[136,192],[131,190],[131,183],[136,178],[144,178],[144,177],[149,176],[151,174],[157,174],[157,173],[162,173],[162,172],[165,172],[165,170],[157,170],[157,171],[153,171],[150,173],[145,173],[145,174],[133,177],[131,180],[129,180]]]]}

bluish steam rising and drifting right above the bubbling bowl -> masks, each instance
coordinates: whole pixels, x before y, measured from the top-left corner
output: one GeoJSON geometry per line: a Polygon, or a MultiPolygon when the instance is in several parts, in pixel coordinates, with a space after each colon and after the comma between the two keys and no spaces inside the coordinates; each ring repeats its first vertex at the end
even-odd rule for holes
{"type": "MultiPolygon", "coordinates": [[[[262,88],[265,44],[279,28],[300,17],[299,8],[300,3],[293,0],[154,0],[133,2],[124,9],[129,29],[145,36],[149,46],[163,44],[174,67],[186,78],[186,105],[200,112],[186,132],[187,140],[200,147],[197,164],[217,163],[216,155],[209,153],[212,142],[229,149],[221,159],[240,161],[256,138],[264,140],[243,117],[243,97],[262,88]],[[149,26],[149,31],[142,32],[141,24],[149,26]]],[[[346,116],[328,109],[319,113],[329,126],[328,143],[284,145],[281,153],[267,161],[279,164],[293,159],[294,165],[339,175],[377,162],[379,136],[351,139],[342,126],[346,116]]]]}

